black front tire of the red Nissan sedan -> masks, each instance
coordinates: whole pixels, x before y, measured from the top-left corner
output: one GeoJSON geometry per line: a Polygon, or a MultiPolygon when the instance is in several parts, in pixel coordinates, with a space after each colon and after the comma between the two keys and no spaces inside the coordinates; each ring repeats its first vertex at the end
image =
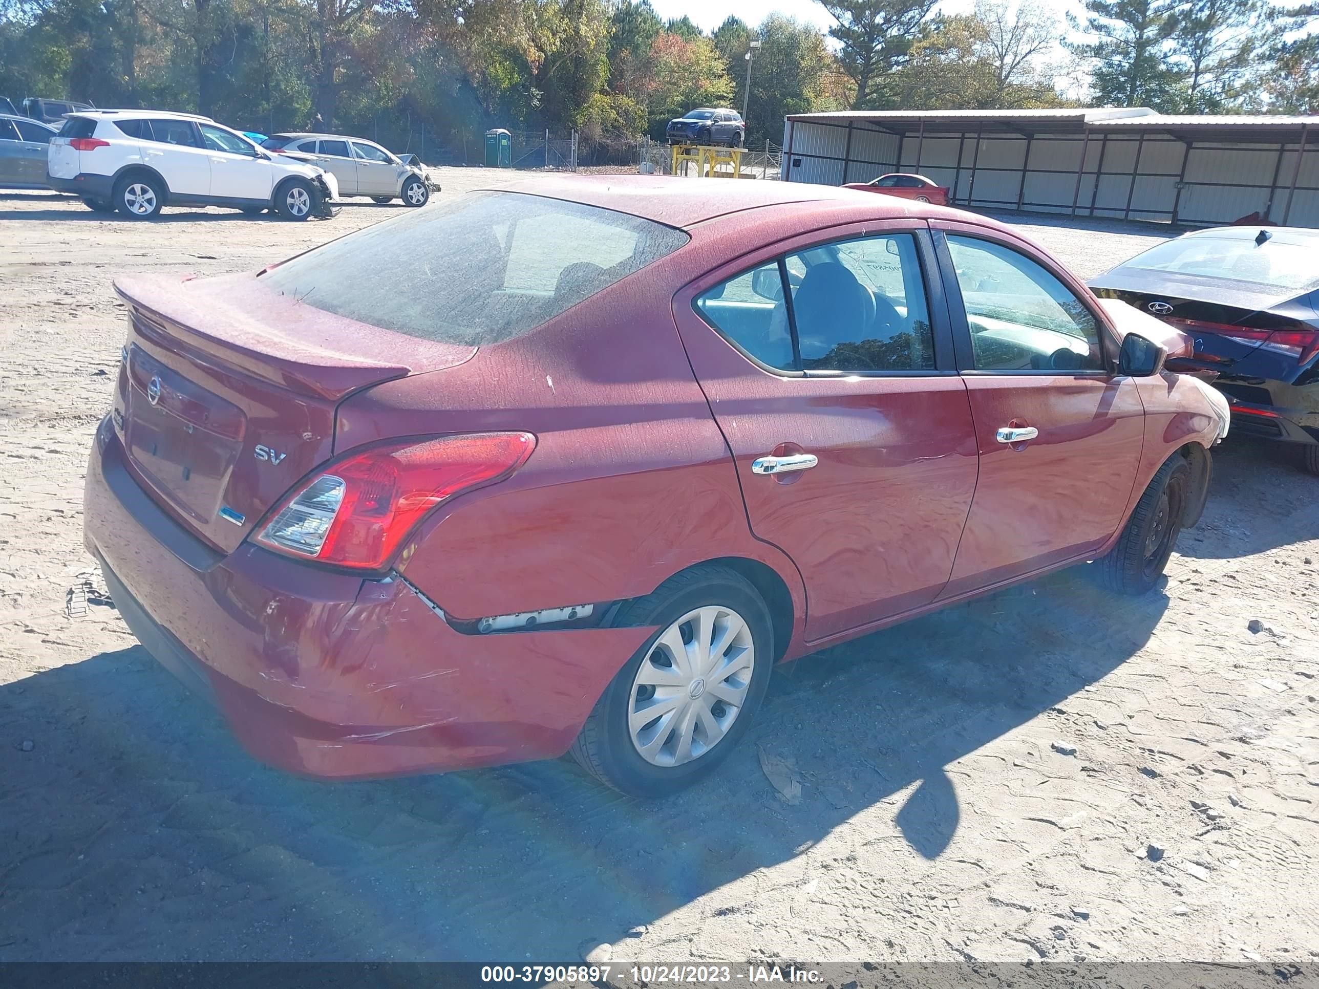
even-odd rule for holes
{"type": "Polygon", "coordinates": [[[1104,556],[1095,560],[1100,582],[1111,591],[1142,595],[1163,575],[1191,497],[1191,465],[1174,455],[1136,502],[1126,527],[1104,556]]]}

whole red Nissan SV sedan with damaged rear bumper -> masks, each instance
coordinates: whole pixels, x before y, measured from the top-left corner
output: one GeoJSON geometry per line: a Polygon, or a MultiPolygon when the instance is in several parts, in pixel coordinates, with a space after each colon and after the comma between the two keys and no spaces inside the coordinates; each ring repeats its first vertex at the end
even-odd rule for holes
{"type": "Polygon", "coordinates": [[[1010,228],[843,189],[546,179],[117,289],[87,546],[315,777],[671,793],[776,662],[1084,560],[1149,589],[1228,423],[1010,228]]]}

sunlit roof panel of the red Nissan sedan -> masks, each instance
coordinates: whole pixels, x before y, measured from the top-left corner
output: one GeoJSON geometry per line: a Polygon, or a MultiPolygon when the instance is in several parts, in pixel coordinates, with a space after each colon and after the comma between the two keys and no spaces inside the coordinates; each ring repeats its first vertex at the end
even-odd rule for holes
{"type": "MultiPolygon", "coordinates": [[[[864,210],[867,219],[904,216],[967,219],[966,214],[959,211],[930,203],[917,203],[901,196],[878,196],[842,186],[761,179],[568,174],[529,178],[509,186],[492,186],[481,191],[522,193],[551,199],[567,199],[678,228],[694,227],[719,216],[744,214],[748,210],[772,206],[797,207],[803,214],[826,206],[851,206],[864,210]]],[[[995,229],[1008,229],[1001,223],[983,216],[976,216],[973,222],[995,229]]]]}

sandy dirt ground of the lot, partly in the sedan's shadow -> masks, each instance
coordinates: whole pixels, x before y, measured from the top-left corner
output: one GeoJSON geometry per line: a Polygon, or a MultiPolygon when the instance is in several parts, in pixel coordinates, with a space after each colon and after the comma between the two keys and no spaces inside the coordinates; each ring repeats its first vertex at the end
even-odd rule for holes
{"type": "MultiPolygon", "coordinates": [[[[104,600],[70,617],[100,589],[111,280],[402,208],[136,224],[0,193],[0,960],[1319,959],[1319,479],[1250,443],[1216,452],[1162,592],[1062,572],[781,667],[749,744],[663,803],[567,761],[290,778],[104,600]]],[[[1167,236],[1010,219],[1082,276],[1167,236]]]]}

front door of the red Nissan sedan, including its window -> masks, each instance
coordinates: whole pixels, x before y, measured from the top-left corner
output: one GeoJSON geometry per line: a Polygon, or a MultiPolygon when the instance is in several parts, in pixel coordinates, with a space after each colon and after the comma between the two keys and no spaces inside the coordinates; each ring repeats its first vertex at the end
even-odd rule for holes
{"type": "Polygon", "coordinates": [[[1066,273],[996,232],[939,225],[980,451],[947,597],[1103,546],[1136,483],[1145,409],[1116,373],[1115,335],[1066,273]]]}

